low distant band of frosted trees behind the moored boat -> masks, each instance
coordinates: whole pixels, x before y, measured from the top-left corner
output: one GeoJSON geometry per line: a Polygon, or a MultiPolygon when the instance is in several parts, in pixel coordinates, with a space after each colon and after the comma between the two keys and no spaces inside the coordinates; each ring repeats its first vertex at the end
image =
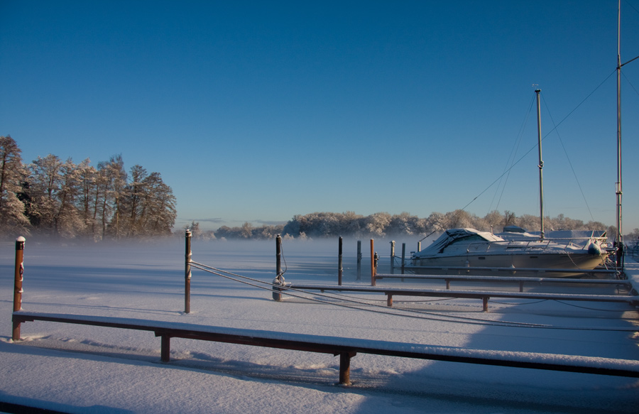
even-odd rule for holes
{"type": "MultiPolygon", "coordinates": [[[[583,222],[569,219],[563,214],[555,218],[544,219],[545,229],[563,230],[606,230],[615,234],[614,227],[606,227],[601,222],[583,222]]],[[[434,212],[430,216],[420,218],[403,212],[388,214],[386,212],[363,216],[354,212],[331,213],[315,212],[295,215],[286,224],[278,226],[253,227],[246,222],[241,227],[220,227],[217,231],[200,231],[200,225],[193,222],[189,227],[194,236],[209,239],[271,239],[276,234],[295,239],[308,237],[384,237],[427,235],[456,227],[471,227],[483,231],[500,232],[506,226],[519,226],[530,231],[540,227],[539,217],[523,214],[517,217],[513,212],[493,211],[485,217],[478,217],[464,210],[455,210],[445,214],[434,212]]]]}

